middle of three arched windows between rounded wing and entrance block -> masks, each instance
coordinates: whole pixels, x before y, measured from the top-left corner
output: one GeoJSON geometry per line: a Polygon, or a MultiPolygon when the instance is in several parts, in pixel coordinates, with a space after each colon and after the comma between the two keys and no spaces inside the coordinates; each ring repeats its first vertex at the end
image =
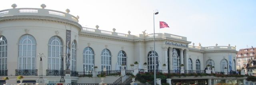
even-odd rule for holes
{"type": "Polygon", "coordinates": [[[108,49],[103,49],[101,52],[101,70],[111,70],[111,54],[108,49]]]}

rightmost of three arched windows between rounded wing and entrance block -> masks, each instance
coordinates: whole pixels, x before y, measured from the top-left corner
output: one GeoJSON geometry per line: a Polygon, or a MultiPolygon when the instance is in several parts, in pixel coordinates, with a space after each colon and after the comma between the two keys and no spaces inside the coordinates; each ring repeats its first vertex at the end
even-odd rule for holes
{"type": "Polygon", "coordinates": [[[124,69],[126,69],[126,53],[124,51],[119,51],[117,56],[117,62],[119,69],[122,69],[122,64],[124,64],[124,69]]]}

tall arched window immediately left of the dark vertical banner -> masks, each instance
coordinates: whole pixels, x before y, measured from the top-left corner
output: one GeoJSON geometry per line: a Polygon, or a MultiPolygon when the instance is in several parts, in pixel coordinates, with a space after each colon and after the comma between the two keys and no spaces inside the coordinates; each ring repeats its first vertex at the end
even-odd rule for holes
{"type": "Polygon", "coordinates": [[[61,69],[61,57],[62,40],[58,36],[53,36],[48,42],[48,69],[60,70],[61,69]]]}

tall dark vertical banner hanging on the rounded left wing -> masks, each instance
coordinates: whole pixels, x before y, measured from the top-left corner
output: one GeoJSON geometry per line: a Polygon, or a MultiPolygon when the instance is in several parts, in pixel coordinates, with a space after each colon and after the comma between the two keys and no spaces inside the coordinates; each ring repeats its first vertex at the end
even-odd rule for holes
{"type": "Polygon", "coordinates": [[[70,42],[71,31],[66,30],[66,74],[70,74],[70,42]]]}

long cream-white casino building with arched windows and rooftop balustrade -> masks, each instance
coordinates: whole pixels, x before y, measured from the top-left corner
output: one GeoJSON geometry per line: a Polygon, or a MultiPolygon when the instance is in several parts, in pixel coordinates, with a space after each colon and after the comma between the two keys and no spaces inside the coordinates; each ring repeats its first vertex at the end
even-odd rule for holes
{"type": "MultiPolygon", "coordinates": [[[[45,56],[42,57],[44,83],[60,81],[61,52],[67,53],[64,58],[66,83],[85,83],[83,79],[87,79],[87,83],[99,83],[95,75],[89,78],[73,74],[94,71],[94,66],[98,67],[96,71],[111,71],[124,64],[125,69],[131,70],[130,64],[138,61],[140,69],[154,69],[153,34],[131,35],[130,31],[121,34],[115,29],[108,32],[98,27],[84,28],[78,23],[79,17],[68,14],[68,9],[66,12],[44,9],[43,4],[42,8],[12,7],[0,11],[0,77],[9,77],[10,83],[16,83],[18,75],[24,76],[23,82],[38,81],[39,53],[45,56]],[[142,67],[144,62],[146,68],[142,67]]],[[[204,71],[208,64],[214,66],[216,72],[224,72],[225,67],[228,71],[236,70],[236,47],[188,45],[191,42],[186,37],[167,33],[155,36],[159,71],[180,71],[181,64],[185,73],[204,71]]],[[[116,79],[118,77],[108,81],[116,79]]]]}

